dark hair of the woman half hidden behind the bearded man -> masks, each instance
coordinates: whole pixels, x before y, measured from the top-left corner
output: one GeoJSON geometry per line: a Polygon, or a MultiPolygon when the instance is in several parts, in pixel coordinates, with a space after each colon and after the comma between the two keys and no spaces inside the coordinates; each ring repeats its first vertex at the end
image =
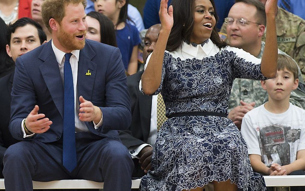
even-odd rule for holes
{"type": "Polygon", "coordinates": [[[117,46],[113,22],[105,15],[96,11],[88,13],[87,16],[99,21],[101,42],[111,46],[117,46]]]}

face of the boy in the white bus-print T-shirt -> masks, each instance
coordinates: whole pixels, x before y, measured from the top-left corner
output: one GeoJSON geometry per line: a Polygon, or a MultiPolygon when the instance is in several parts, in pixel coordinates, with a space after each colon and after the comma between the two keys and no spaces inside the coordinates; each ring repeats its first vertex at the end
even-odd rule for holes
{"type": "Polygon", "coordinates": [[[278,70],[272,79],[263,80],[261,84],[267,90],[269,97],[274,100],[289,101],[290,92],[298,87],[299,79],[294,79],[293,73],[287,70],[278,70]]]}

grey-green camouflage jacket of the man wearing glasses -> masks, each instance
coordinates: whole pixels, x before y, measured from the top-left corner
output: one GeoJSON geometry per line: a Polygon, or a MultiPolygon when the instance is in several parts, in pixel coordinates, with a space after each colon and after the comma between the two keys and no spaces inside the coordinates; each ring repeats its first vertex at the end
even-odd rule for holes
{"type": "MultiPolygon", "coordinates": [[[[262,41],[260,54],[257,56],[261,58],[263,56],[265,43],[262,41]]],[[[279,54],[285,54],[283,51],[278,50],[279,54]]],[[[240,100],[247,103],[255,102],[254,107],[258,107],[268,101],[267,91],[264,90],[260,84],[260,81],[251,79],[235,79],[231,89],[231,96],[229,100],[229,111],[236,106],[240,105],[240,100]]],[[[289,101],[300,108],[305,108],[305,84],[301,76],[299,69],[299,86],[296,90],[293,90],[290,94],[289,101]]]]}

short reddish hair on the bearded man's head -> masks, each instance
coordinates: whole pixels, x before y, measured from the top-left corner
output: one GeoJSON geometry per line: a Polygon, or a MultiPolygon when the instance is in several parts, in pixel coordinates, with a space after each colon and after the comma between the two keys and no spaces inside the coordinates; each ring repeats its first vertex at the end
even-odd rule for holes
{"type": "Polygon", "coordinates": [[[86,0],[45,0],[41,5],[41,16],[43,23],[48,28],[50,32],[52,32],[51,27],[49,25],[49,20],[51,18],[55,19],[59,24],[63,20],[65,16],[65,6],[69,3],[79,4],[82,3],[84,9],[87,6],[86,0]]]}

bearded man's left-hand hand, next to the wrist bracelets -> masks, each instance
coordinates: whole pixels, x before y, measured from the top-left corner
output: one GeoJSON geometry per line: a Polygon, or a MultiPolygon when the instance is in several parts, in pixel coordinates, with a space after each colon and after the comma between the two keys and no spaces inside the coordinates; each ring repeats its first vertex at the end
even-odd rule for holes
{"type": "Polygon", "coordinates": [[[33,110],[29,113],[25,119],[25,126],[32,133],[44,133],[49,130],[50,125],[53,123],[48,118],[45,117],[45,114],[39,113],[38,105],[35,105],[33,110]]]}

